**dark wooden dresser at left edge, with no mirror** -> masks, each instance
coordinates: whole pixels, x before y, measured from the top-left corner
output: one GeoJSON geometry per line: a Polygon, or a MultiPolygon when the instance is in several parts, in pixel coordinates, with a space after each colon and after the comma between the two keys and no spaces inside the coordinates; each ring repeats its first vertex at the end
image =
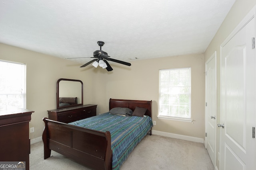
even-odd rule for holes
{"type": "Polygon", "coordinates": [[[26,170],[29,170],[29,121],[32,112],[0,107],[0,161],[26,162],[26,170]]]}

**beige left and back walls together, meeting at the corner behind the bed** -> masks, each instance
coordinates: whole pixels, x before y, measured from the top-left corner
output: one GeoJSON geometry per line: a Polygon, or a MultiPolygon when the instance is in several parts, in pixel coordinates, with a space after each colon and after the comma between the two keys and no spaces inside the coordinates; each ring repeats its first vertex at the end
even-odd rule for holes
{"type": "Polygon", "coordinates": [[[84,104],[98,104],[97,114],[108,111],[110,98],[152,100],[154,130],[204,138],[204,56],[186,55],[134,61],[132,66],[111,62],[112,72],[86,67],[49,55],[0,44],[0,59],[26,63],[27,109],[34,110],[30,139],[40,137],[47,110],[56,108],[56,82],[59,78],[82,80],[84,104]],[[158,119],[158,70],[192,67],[192,117],[194,123],[158,119]]]}

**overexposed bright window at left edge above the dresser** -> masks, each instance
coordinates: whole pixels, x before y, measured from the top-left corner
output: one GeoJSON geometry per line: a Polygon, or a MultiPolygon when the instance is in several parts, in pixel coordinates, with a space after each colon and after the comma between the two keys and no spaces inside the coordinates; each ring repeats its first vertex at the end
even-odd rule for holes
{"type": "Polygon", "coordinates": [[[26,109],[26,64],[0,61],[0,107],[26,109]]]}

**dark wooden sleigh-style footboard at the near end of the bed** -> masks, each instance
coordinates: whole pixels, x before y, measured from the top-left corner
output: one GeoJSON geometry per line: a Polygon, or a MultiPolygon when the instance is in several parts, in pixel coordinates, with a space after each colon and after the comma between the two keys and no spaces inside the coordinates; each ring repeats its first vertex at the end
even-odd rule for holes
{"type": "Polygon", "coordinates": [[[110,132],[106,133],[43,119],[44,159],[51,150],[93,169],[112,169],[110,132]]]}

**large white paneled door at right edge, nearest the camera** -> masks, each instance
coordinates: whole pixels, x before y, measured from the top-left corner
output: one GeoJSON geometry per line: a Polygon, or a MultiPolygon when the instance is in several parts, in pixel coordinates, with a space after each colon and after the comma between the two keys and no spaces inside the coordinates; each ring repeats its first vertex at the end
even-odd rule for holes
{"type": "Polygon", "coordinates": [[[256,170],[255,18],[221,49],[220,170],[256,170]]]}

